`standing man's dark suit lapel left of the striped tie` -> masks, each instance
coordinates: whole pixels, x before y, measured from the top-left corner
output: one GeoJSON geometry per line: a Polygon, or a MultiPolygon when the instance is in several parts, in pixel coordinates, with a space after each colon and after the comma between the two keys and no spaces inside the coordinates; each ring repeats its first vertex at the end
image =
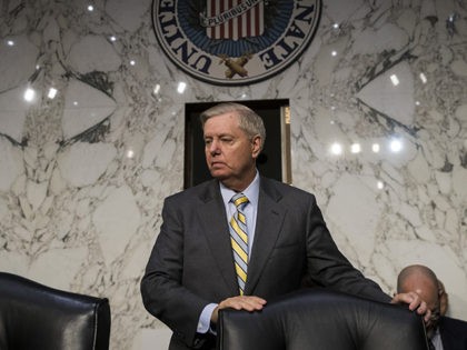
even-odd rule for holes
{"type": "Polygon", "coordinates": [[[238,293],[237,277],[227,226],[226,208],[220,196],[219,183],[211,181],[207,190],[200,194],[201,204],[197,211],[199,222],[208,241],[210,252],[220,270],[230,294],[238,293]]]}

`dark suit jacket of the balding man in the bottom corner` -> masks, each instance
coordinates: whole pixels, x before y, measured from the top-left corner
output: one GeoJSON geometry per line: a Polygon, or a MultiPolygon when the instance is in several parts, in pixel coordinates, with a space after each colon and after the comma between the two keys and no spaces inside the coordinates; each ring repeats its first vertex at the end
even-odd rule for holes
{"type": "Polygon", "coordinates": [[[467,350],[467,322],[441,317],[439,333],[444,350],[467,350]]]}

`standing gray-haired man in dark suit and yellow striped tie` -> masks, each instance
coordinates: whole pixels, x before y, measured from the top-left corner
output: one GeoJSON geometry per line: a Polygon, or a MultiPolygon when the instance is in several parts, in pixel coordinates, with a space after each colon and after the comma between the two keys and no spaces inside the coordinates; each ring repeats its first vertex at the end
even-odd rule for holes
{"type": "MultiPolygon", "coordinates": [[[[215,349],[219,309],[261,310],[304,279],[391,301],[340,253],[312,194],[258,173],[266,138],[259,116],[221,103],[205,111],[201,123],[213,180],[165,200],[141,280],[146,309],[173,331],[170,350],[215,349]],[[239,193],[246,198],[231,200],[239,193]]],[[[393,301],[427,310],[416,293],[393,301]]]]}

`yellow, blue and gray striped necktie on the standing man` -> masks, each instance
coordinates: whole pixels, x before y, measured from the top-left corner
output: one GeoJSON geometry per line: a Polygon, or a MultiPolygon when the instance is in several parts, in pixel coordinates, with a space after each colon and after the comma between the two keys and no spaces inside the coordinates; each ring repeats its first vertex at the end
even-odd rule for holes
{"type": "Polygon", "coordinates": [[[248,203],[248,198],[244,193],[237,193],[230,201],[234,202],[237,208],[229,224],[230,242],[234,250],[238,288],[240,296],[244,296],[248,269],[248,231],[244,208],[248,203]]]}

